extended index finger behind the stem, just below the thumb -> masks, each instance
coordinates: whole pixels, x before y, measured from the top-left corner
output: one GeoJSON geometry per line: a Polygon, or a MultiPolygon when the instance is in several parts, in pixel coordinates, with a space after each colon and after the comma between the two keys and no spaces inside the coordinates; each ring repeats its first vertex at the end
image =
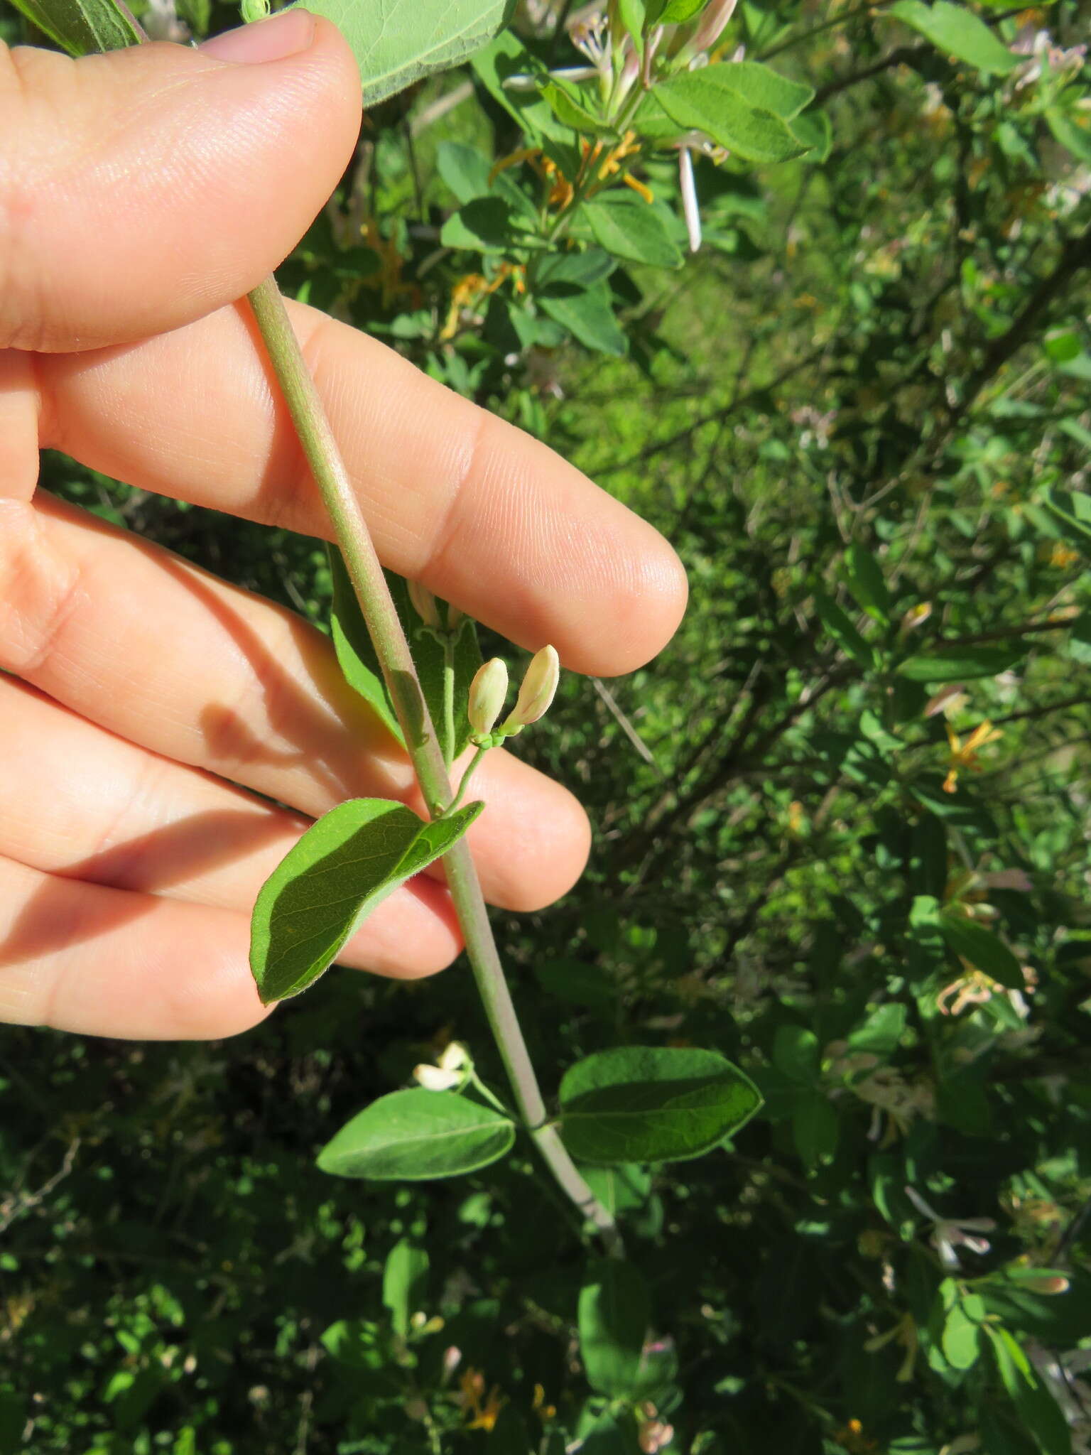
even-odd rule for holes
{"type": "MultiPolygon", "coordinates": [[[[531,650],[617,675],[685,608],[663,537],[557,454],[391,349],[291,306],[384,565],[531,650]]],[[[330,537],[246,306],[41,356],[42,444],[140,489],[330,537]]]]}

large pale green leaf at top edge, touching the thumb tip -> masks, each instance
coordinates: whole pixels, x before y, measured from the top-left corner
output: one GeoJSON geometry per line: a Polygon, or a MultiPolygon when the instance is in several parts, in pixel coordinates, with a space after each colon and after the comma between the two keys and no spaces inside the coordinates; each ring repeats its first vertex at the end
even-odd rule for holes
{"type": "Polygon", "coordinates": [[[352,47],[374,106],[433,71],[445,71],[480,51],[511,15],[511,0],[307,0],[332,20],[352,47]]]}

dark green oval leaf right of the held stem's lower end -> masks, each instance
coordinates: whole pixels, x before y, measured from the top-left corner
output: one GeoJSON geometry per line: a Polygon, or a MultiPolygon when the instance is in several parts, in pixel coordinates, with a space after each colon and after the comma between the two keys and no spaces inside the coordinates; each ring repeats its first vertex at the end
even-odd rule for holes
{"type": "Polygon", "coordinates": [[[668,1163],[700,1157],[761,1106],[758,1088],[714,1051],[618,1046],[570,1067],[560,1128],[589,1163],[668,1163]]]}

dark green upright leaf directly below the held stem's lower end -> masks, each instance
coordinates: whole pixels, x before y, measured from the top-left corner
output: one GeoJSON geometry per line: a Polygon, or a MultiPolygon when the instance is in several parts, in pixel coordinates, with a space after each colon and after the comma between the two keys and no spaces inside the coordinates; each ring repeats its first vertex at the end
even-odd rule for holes
{"type": "Polygon", "coordinates": [[[579,1293],[579,1352],[592,1390],[612,1398],[639,1391],[650,1317],[647,1288],[631,1263],[595,1259],[589,1264],[579,1293]]]}

